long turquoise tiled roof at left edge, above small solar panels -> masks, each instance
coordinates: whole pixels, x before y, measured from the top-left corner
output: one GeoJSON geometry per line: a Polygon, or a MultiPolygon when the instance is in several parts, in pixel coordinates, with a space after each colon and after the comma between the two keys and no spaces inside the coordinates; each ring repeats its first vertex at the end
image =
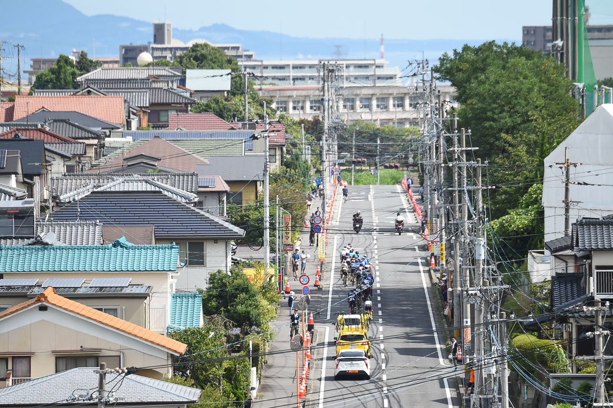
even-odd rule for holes
{"type": "Polygon", "coordinates": [[[176,245],[134,245],[124,236],[109,245],[0,245],[0,271],[175,271],[178,256],[176,245]]]}

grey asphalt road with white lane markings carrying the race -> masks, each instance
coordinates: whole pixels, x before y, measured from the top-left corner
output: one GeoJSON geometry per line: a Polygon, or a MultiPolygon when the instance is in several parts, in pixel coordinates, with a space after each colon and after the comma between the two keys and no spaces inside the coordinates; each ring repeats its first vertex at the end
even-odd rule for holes
{"type": "Polygon", "coordinates": [[[331,220],[327,256],[335,256],[334,273],[326,278],[330,280],[326,281],[322,302],[322,308],[330,305],[330,314],[326,310],[320,319],[329,317],[324,322],[330,324],[335,321],[335,312],[348,311],[345,300],[348,288],[340,279],[339,250],[351,243],[360,254],[368,254],[375,265],[375,311],[369,333],[375,358],[370,360],[370,380],[335,380],[335,330],[330,324],[327,341],[325,336],[318,339],[319,346],[327,345],[324,350],[327,358],[325,367],[312,377],[319,380],[319,387],[318,395],[311,396],[310,406],[459,406],[454,388],[443,379],[451,376],[452,365],[445,360],[448,352],[438,345],[440,341],[433,333],[433,325],[440,329],[440,320],[431,296],[429,265],[419,261],[424,254],[424,242],[411,232],[402,236],[393,232],[397,211],[402,211],[405,217],[405,230],[417,230],[413,212],[405,212],[409,207],[403,197],[400,186],[349,187],[348,201],[331,220]],[[359,234],[352,231],[351,224],[352,214],[357,210],[364,218],[359,234]],[[313,404],[315,401],[317,404],[313,404]]]}

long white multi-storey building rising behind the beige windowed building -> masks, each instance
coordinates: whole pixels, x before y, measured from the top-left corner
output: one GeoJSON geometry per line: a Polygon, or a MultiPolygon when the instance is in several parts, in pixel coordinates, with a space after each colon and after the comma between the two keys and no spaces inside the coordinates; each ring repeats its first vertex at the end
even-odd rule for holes
{"type": "Polygon", "coordinates": [[[275,86],[319,86],[321,85],[321,64],[335,63],[338,71],[338,85],[347,86],[392,86],[402,85],[398,67],[387,67],[384,59],[316,59],[316,60],[255,60],[241,61],[241,69],[261,77],[262,85],[275,86]]]}

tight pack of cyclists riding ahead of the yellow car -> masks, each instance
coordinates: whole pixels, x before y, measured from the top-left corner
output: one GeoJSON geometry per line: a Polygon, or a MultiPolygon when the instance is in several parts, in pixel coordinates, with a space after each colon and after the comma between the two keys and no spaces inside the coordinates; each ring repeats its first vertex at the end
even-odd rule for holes
{"type": "Polygon", "coordinates": [[[349,281],[352,286],[355,285],[355,289],[351,289],[347,293],[349,312],[354,314],[358,309],[364,309],[371,314],[373,303],[370,297],[373,294],[375,278],[373,278],[368,256],[360,255],[360,252],[353,249],[351,244],[347,244],[341,249],[340,257],[343,284],[347,286],[349,281]]]}

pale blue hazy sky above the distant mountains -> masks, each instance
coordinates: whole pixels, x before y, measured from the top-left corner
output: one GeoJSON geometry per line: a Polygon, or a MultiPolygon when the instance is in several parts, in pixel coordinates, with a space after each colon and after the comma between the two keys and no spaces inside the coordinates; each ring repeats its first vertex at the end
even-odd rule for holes
{"type": "Polygon", "coordinates": [[[520,40],[522,26],[551,24],[552,7],[551,0],[64,1],[86,15],[166,18],[181,29],[224,23],[296,37],[353,39],[383,33],[388,39],[520,40]]]}

